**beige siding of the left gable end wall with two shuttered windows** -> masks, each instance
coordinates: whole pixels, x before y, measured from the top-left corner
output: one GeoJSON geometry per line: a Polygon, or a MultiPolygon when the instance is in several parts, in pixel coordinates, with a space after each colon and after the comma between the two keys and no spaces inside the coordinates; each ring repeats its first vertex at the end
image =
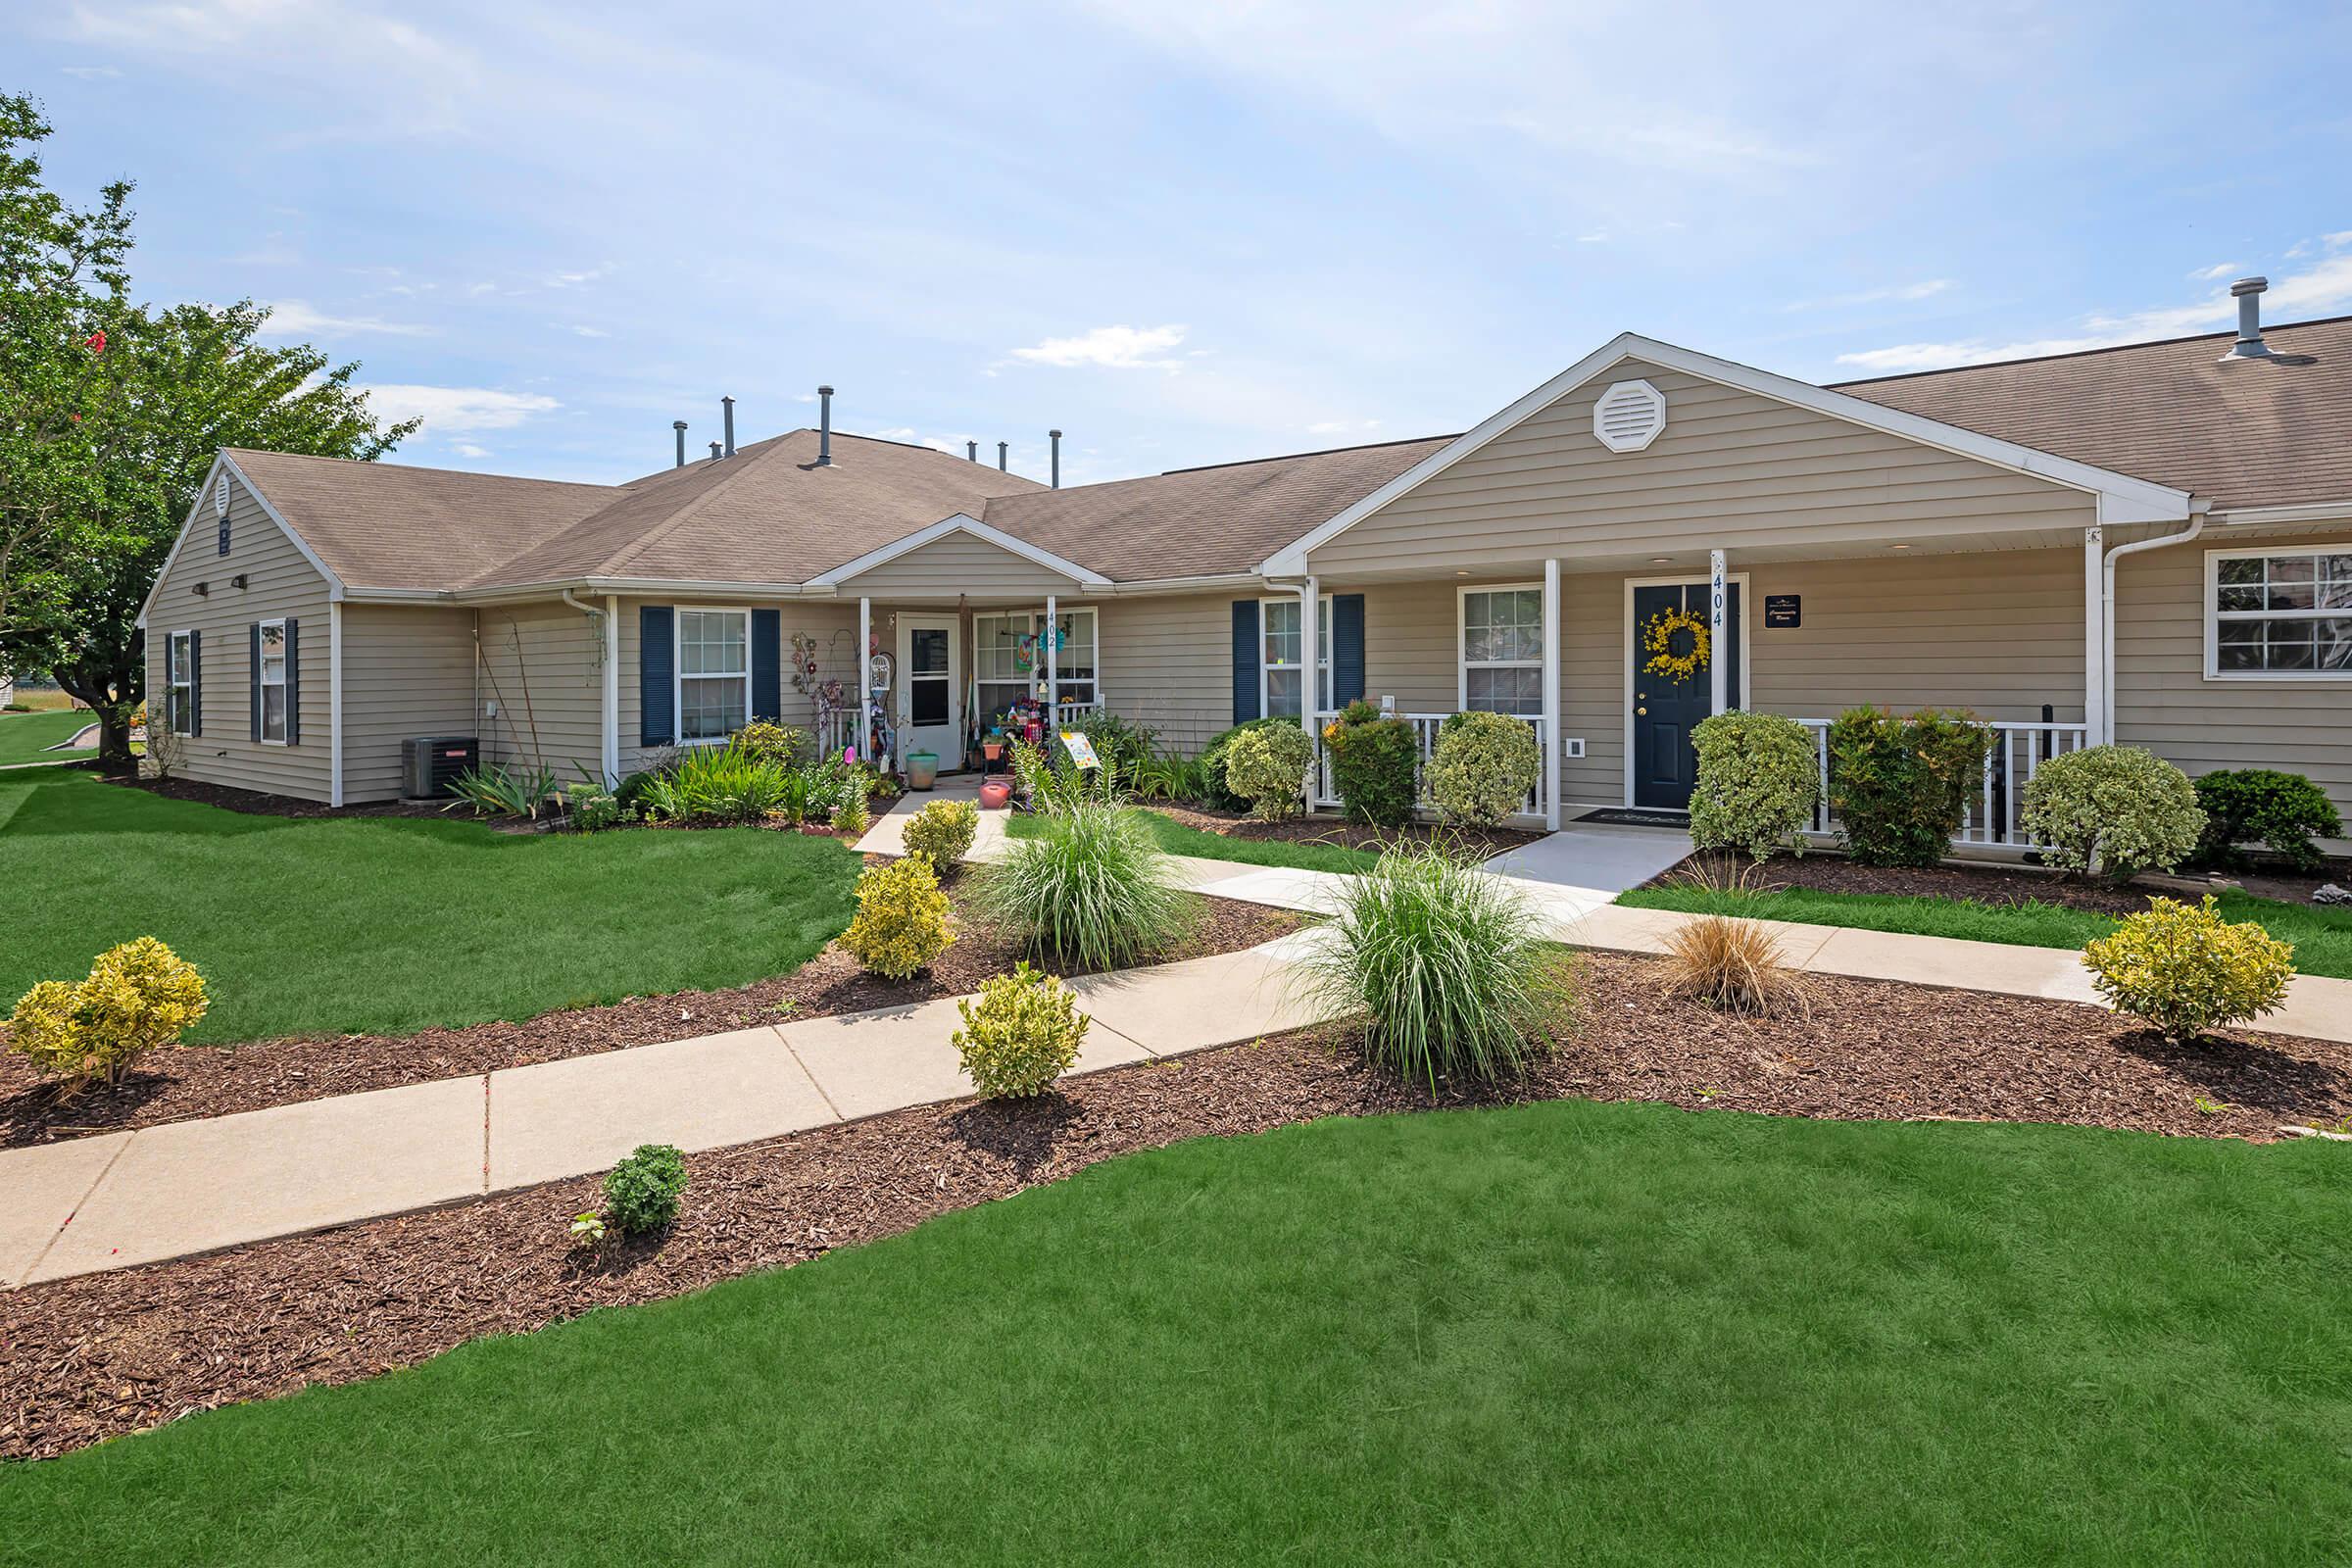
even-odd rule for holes
{"type": "Polygon", "coordinates": [[[329,668],[334,632],[327,578],[303,559],[252,491],[235,487],[228,508],[228,555],[219,552],[219,517],[205,491],[191,538],[165,571],[146,621],[146,689],[153,712],[165,712],[172,689],[169,635],[202,632],[205,733],[179,743],[181,778],[261,790],[294,799],[329,797],[329,668]],[[245,588],[230,583],[245,576],[245,588]],[[198,595],[195,585],[207,592],[198,595]],[[256,621],[299,621],[299,733],[294,745],[252,738],[252,632],[256,621]]]}

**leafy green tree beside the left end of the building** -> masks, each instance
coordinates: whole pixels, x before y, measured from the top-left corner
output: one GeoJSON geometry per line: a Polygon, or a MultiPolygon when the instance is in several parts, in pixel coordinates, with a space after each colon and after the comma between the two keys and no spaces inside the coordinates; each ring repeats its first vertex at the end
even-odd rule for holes
{"type": "Polygon", "coordinates": [[[40,183],[47,122],[0,96],[0,668],[49,670],[129,766],[139,607],[221,447],[374,461],[353,364],[256,341],[268,310],[129,303],[129,183],[80,212],[40,183]]]}

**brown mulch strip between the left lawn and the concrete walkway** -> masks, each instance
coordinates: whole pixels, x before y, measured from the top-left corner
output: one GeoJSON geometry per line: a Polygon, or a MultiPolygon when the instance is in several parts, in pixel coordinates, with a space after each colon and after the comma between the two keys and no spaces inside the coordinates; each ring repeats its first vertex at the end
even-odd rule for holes
{"type": "MultiPolygon", "coordinates": [[[[868,973],[837,945],[788,976],[729,990],[633,997],[612,1006],[541,1013],[522,1023],[475,1023],[421,1034],[325,1034],[268,1039],[242,1046],[183,1046],[153,1051],[113,1091],[59,1095],[21,1056],[0,1053],[0,1147],[61,1143],[94,1133],[118,1133],[191,1117],[226,1117],[266,1105],[322,1100],[365,1088],[397,1088],[501,1067],[529,1067],[569,1056],[595,1056],[623,1046],[652,1046],[762,1023],[863,1013],[934,997],[976,992],[983,980],[1028,957],[1016,943],[955,914],[960,893],[948,891],[957,940],[913,980],[868,973]]],[[[1162,954],[1160,964],[1240,952],[1298,929],[1301,917],[1232,898],[1200,898],[1202,922],[1192,940],[1162,954]]],[[[1087,973],[1077,964],[1051,964],[1054,973],[1087,973]]]]}

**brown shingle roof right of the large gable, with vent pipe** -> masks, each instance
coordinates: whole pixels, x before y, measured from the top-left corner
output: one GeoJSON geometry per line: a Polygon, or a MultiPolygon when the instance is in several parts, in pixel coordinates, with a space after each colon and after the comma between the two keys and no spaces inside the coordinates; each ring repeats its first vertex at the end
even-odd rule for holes
{"type": "Polygon", "coordinates": [[[2352,317],[1846,381],[1832,390],[2209,498],[2218,510],[2352,498],[2352,317]]]}

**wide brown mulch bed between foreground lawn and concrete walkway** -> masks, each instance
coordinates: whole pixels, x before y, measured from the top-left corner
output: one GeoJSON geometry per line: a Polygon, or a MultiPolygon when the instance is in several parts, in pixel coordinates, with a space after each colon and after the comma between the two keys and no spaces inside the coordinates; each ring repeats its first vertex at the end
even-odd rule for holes
{"type": "MultiPolygon", "coordinates": [[[[1590,957],[1578,1032],[1524,1084],[1449,1105],[1583,1095],[1682,1107],[2016,1119],[2270,1138],[2352,1114],[2352,1048],[2244,1034],[2152,1041],[2098,1009],[1872,980],[1806,1018],[1661,997],[1656,959],[1590,957]],[[2206,1114],[2194,1098],[2223,1105],[2206,1114]]],[[[569,1246],[576,1178],[0,1295],[0,1455],[54,1455],[219,1403],[353,1382],[487,1333],[677,1295],[915,1227],[1098,1159],[1331,1114],[1423,1110],[1341,1030],[1073,1079],[1025,1105],[929,1105],[687,1159],[663,1237],[569,1246]]]]}

